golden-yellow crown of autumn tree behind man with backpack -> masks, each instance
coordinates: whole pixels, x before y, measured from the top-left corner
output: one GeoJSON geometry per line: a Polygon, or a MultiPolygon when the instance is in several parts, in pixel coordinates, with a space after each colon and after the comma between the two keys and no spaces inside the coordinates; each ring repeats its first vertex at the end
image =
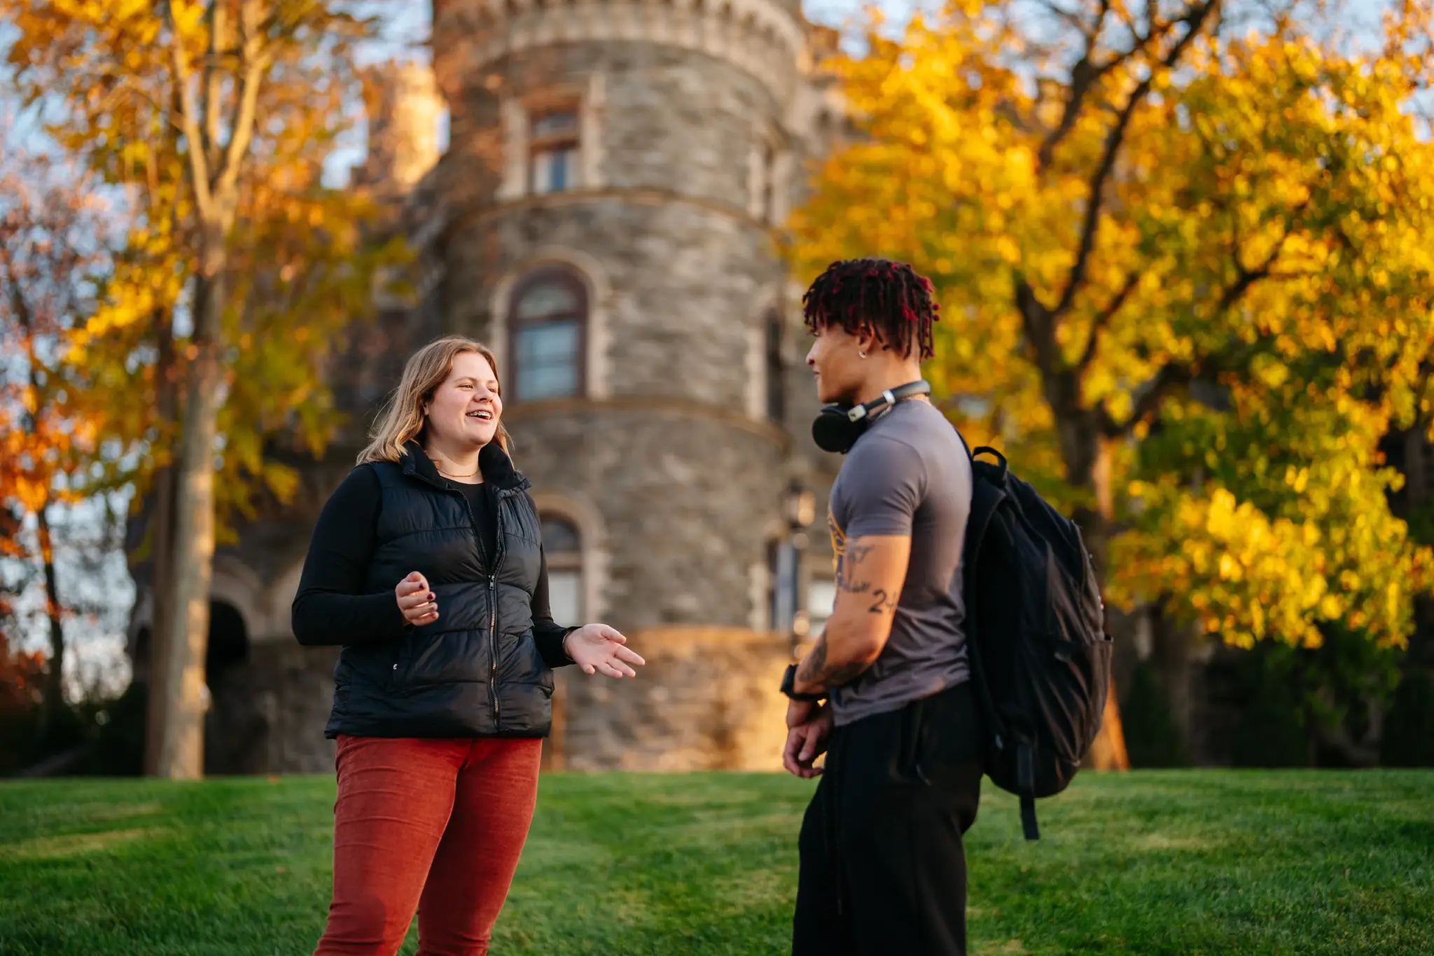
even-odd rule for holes
{"type": "Polygon", "coordinates": [[[1236,644],[1400,642],[1428,553],[1380,436],[1427,406],[1427,4],[1359,53],[1318,6],[962,0],[839,63],[860,138],[807,272],[939,287],[929,377],[1080,522],[1113,598],[1236,644]]]}

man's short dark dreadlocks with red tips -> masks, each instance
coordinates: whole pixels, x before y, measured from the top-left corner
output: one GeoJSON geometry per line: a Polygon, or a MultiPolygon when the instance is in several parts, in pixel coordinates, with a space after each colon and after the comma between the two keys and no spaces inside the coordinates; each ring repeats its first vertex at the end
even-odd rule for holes
{"type": "Polygon", "coordinates": [[[836,325],[850,334],[870,327],[876,338],[901,353],[931,358],[932,324],[941,307],[931,300],[931,279],[905,262],[846,259],[826,267],[802,297],[806,327],[836,325]]]}

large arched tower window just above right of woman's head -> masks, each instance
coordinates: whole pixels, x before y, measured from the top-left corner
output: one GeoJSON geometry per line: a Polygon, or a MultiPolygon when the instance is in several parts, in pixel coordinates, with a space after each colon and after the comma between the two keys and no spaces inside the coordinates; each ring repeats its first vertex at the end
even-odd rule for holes
{"type": "Polygon", "coordinates": [[[518,401],[582,394],[588,294],[576,277],[542,269],[513,291],[509,397],[518,401]]]}

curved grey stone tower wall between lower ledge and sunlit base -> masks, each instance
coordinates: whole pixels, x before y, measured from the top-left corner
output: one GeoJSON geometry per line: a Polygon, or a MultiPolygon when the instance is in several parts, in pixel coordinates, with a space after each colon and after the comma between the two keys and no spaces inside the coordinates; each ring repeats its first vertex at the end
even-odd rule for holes
{"type": "Polygon", "coordinates": [[[535,493],[601,515],[607,586],[599,612],[608,623],[747,625],[750,569],[766,562],[767,516],[779,506],[774,440],[641,407],[575,406],[565,414],[515,416],[508,427],[535,493]]]}

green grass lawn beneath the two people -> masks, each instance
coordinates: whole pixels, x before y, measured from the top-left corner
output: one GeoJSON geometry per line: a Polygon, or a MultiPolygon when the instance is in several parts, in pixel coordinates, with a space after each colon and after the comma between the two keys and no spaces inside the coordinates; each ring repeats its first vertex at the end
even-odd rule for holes
{"type": "MultiPolygon", "coordinates": [[[[787,952],[810,790],[545,777],[493,953],[787,952]]],[[[307,953],[333,797],[328,778],[0,784],[0,953],[307,953]]],[[[1434,773],[1087,774],[1043,808],[1027,844],[988,785],[975,953],[1434,953],[1434,773]]]]}

